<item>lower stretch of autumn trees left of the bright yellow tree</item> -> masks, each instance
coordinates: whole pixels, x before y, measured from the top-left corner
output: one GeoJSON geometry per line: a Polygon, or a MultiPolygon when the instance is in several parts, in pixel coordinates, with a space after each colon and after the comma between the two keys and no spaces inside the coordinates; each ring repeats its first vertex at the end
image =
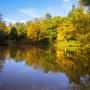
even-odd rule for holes
{"type": "MultiPolygon", "coordinates": [[[[3,22],[3,21],[1,21],[3,22]]],[[[15,42],[29,43],[51,43],[57,39],[57,27],[61,22],[61,17],[52,17],[49,13],[44,18],[35,18],[24,23],[17,22],[4,28],[5,24],[0,23],[0,31],[4,32],[7,40],[15,42]],[[3,26],[4,25],[4,26],[3,26]]],[[[2,34],[1,34],[2,35],[2,34]]],[[[1,38],[2,40],[6,38],[1,38]]]]}

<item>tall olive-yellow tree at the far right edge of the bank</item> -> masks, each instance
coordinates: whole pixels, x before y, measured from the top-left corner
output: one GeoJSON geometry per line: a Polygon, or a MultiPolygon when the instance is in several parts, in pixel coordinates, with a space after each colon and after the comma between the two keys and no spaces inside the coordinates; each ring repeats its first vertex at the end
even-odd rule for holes
{"type": "Polygon", "coordinates": [[[90,13],[84,12],[82,7],[76,7],[70,12],[69,18],[76,28],[74,37],[76,37],[80,45],[86,46],[86,43],[90,44],[90,13]]]}

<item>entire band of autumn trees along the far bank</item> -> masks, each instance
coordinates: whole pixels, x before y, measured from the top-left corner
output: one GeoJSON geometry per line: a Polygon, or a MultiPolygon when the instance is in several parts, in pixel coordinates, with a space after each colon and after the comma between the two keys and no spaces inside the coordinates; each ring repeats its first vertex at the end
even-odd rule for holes
{"type": "Polygon", "coordinates": [[[65,17],[47,13],[26,23],[6,25],[0,15],[0,45],[61,44],[90,46],[90,0],[79,0],[65,17]]]}

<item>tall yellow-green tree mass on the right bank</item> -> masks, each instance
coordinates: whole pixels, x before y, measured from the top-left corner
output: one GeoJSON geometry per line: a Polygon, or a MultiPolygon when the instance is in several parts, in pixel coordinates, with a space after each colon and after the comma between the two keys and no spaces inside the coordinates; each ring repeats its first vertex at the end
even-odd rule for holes
{"type": "Polygon", "coordinates": [[[58,44],[61,41],[74,40],[82,46],[90,46],[90,13],[84,12],[84,8],[73,7],[69,15],[62,18],[57,31],[58,44]]]}

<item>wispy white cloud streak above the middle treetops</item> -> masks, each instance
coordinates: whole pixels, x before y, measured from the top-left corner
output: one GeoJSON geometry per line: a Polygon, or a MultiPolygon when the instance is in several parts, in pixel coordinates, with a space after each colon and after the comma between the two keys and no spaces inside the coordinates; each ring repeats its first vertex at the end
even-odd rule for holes
{"type": "Polygon", "coordinates": [[[23,15],[29,16],[30,18],[35,18],[35,17],[43,17],[46,13],[50,13],[54,15],[57,9],[48,6],[47,8],[41,8],[41,9],[24,8],[24,9],[19,9],[18,11],[23,15]]]}

